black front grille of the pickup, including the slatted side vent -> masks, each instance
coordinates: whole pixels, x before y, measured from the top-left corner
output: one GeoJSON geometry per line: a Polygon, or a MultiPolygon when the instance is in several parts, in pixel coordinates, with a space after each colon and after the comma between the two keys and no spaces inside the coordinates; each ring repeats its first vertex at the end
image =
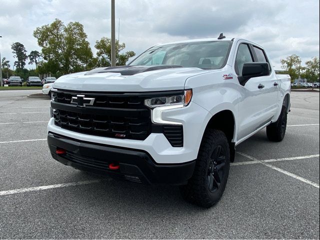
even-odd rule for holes
{"type": "Polygon", "coordinates": [[[172,146],[181,147],[182,125],[153,124],[151,111],[144,105],[144,100],[147,98],[171,94],[181,94],[181,91],[146,93],[52,91],[54,101],[51,101],[51,107],[54,124],[84,134],[135,140],[144,140],[151,132],[161,132],[172,146]],[[94,98],[93,104],[84,107],[71,103],[72,97],[75,99],[77,95],[94,98]]]}

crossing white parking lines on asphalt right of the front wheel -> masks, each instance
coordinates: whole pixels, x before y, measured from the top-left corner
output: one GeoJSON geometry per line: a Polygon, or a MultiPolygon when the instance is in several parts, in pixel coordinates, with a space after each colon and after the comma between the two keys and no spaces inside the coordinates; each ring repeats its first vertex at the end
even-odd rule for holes
{"type": "Polygon", "coordinates": [[[273,166],[273,165],[271,165],[271,164],[267,164],[267,163],[265,163],[265,162],[313,158],[313,157],[318,157],[318,156],[320,156],[320,154],[313,154],[313,155],[307,155],[307,156],[293,156],[293,157],[284,157],[284,158],[266,159],[266,160],[258,160],[258,159],[256,159],[255,157],[250,156],[250,155],[248,155],[248,154],[245,154],[245,153],[243,153],[243,152],[237,151],[237,153],[240,154],[240,155],[242,155],[242,156],[244,156],[244,157],[247,157],[247,158],[251,159],[252,161],[232,162],[232,163],[230,163],[230,165],[236,166],[236,165],[247,165],[247,164],[260,163],[260,164],[265,165],[265,166],[267,166],[267,167],[270,167],[270,168],[272,168],[272,169],[274,169],[274,170],[277,170],[277,171],[279,171],[279,172],[281,172],[281,173],[283,173],[283,174],[286,174],[286,175],[288,175],[288,176],[291,176],[291,177],[293,177],[293,178],[295,178],[295,179],[297,179],[297,180],[303,181],[303,182],[305,182],[305,183],[307,183],[307,184],[309,184],[309,185],[311,185],[311,186],[314,186],[314,187],[316,187],[316,188],[319,188],[319,184],[317,184],[317,183],[315,183],[315,182],[313,182],[313,181],[310,181],[310,180],[305,179],[305,178],[303,178],[303,177],[301,177],[301,176],[295,175],[295,174],[293,174],[293,173],[291,173],[291,172],[288,172],[288,171],[286,171],[286,170],[283,170],[283,169],[281,169],[281,168],[279,168],[279,167],[276,167],[276,166],[273,166]]]}

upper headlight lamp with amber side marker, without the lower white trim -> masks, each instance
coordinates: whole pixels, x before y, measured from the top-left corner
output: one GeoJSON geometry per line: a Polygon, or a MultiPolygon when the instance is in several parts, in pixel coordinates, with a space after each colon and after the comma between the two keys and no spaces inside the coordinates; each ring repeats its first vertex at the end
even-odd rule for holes
{"type": "Polygon", "coordinates": [[[159,106],[171,106],[177,104],[183,104],[186,106],[189,104],[192,96],[192,90],[184,90],[184,94],[173,95],[173,96],[159,96],[144,100],[144,104],[150,108],[155,108],[159,106]]]}

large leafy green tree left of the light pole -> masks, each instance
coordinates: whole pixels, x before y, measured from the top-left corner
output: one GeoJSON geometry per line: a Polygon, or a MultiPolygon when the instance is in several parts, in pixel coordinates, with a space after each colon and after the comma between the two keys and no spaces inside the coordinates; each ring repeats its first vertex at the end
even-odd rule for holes
{"type": "Polygon", "coordinates": [[[46,65],[47,72],[65,74],[90,69],[93,54],[79,22],[64,25],[56,18],[51,24],[37,27],[33,36],[42,47],[43,58],[47,60],[43,65],[46,65]]]}

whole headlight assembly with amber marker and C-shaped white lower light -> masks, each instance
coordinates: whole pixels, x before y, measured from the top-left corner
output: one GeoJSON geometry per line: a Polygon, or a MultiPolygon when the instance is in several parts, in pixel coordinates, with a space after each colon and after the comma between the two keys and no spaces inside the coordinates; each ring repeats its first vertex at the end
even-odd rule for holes
{"type": "Polygon", "coordinates": [[[153,123],[182,125],[181,122],[162,119],[162,112],[174,108],[184,107],[189,104],[192,90],[184,90],[184,94],[173,96],[159,96],[144,100],[144,104],[151,108],[151,120],[153,123]]]}

